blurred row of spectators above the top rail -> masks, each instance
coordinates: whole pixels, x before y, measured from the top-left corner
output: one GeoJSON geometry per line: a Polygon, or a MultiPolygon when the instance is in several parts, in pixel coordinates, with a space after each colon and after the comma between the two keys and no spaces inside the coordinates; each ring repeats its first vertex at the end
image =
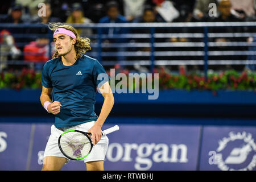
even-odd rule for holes
{"type": "Polygon", "coordinates": [[[5,23],[98,23],[106,21],[104,16],[117,23],[205,22],[210,19],[210,3],[219,6],[218,13],[222,15],[213,17],[218,21],[255,19],[255,0],[13,0],[1,2],[0,15],[5,23]],[[42,18],[38,17],[39,3],[47,5],[47,15],[42,18]]]}

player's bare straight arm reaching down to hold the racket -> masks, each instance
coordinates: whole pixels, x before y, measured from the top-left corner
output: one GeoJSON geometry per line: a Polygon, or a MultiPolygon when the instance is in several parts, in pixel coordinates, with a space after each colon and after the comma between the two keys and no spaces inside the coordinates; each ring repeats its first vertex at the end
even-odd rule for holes
{"type": "Polygon", "coordinates": [[[109,82],[105,82],[99,88],[102,96],[104,97],[104,103],[101,108],[101,113],[98,116],[97,121],[94,123],[93,127],[88,130],[89,133],[92,134],[92,141],[93,144],[97,144],[98,141],[101,139],[101,127],[104,124],[106,118],[108,117],[112,107],[114,105],[114,96],[112,90],[110,88],[109,82]]]}

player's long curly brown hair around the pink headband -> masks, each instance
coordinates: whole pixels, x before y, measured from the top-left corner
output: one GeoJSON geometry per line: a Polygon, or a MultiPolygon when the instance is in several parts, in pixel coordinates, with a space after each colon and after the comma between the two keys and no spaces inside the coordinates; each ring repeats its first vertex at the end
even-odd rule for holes
{"type": "MultiPolygon", "coordinates": [[[[76,43],[75,43],[75,51],[76,51],[76,60],[82,57],[82,53],[85,53],[86,51],[89,51],[90,48],[90,39],[89,38],[82,38],[81,36],[79,36],[76,28],[72,27],[71,25],[67,24],[67,23],[49,23],[48,27],[50,30],[52,30],[53,32],[57,29],[57,28],[65,28],[67,30],[72,31],[75,35],[76,35],[76,43]]],[[[73,39],[73,38],[71,38],[73,39]]],[[[56,58],[59,57],[59,53],[56,51],[54,53],[54,55],[52,56],[52,58],[56,58]]]]}

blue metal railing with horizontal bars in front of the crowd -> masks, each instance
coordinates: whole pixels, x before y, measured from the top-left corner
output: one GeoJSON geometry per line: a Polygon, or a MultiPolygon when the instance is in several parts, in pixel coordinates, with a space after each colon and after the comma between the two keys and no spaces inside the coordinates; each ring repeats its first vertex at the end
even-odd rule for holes
{"type": "MultiPolygon", "coordinates": [[[[200,22],[200,23],[91,23],[91,24],[72,24],[76,28],[92,28],[94,34],[92,35],[81,35],[88,36],[91,40],[91,47],[96,48],[88,52],[88,55],[97,57],[103,65],[146,65],[149,67],[150,71],[155,68],[156,65],[203,65],[203,71],[205,77],[207,77],[207,72],[209,65],[255,65],[256,61],[254,56],[256,51],[250,49],[250,47],[256,46],[255,42],[243,41],[229,41],[229,42],[214,42],[210,39],[214,38],[254,38],[256,33],[253,31],[242,31],[242,32],[211,32],[210,28],[224,28],[227,27],[256,27],[256,22],[200,22]],[[104,28],[126,28],[130,32],[126,34],[117,35],[106,35],[102,32],[104,28]],[[179,32],[179,30],[184,30],[184,28],[195,30],[194,32],[179,32]],[[133,30],[148,29],[146,34],[137,33],[133,30]],[[158,31],[160,30],[160,31],[158,31]],[[164,32],[161,32],[161,31],[164,32]],[[172,30],[176,32],[172,32],[172,30]],[[177,31],[178,30],[178,31],[177,31]],[[198,31],[199,30],[199,31],[198,31]],[[196,39],[188,42],[168,42],[166,40],[176,37],[176,38],[192,38],[196,39]],[[125,42],[112,42],[106,43],[105,39],[125,39],[129,41],[125,42]],[[131,40],[140,39],[142,42],[133,42],[131,40]],[[147,41],[144,41],[147,40],[147,41]],[[148,51],[138,51],[139,48],[147,47],[148,51]],[[210,50],[210,48],[234,48],[234,47],[247,47],[247,49],[239,50],[210,50]],[[104,51],[105,48],[118,48],[114,51],[104,51]],[[125,48],[125,50],[121,49],[125,48]],[[163,48],[162,50],[157,50],[163,48]],[[173,51],[172,49],[178,48],[178,51],[173,51]],[[184,48],[198,48],[197,50],[184,50],[184,48]],[[134,50],[135,49],[135,50],[134,50]],[[171,49],[171,50],[170,50],[171,49]],[[245,57],[243,59],[209,59],[209,57],[226,56],[240,56],[245,57]],[[248,57],[251,56],[250,59],[248,57]],[[118,60],[105,60],[106,57],[121,57],[118,60]],[[123,57],[126,57],[122,60],[123,57]],[[128,59],[127,57],[132,58],[128,59]],[[164,57],[164,59],[162,58],[164,57]],[[188,57],[184,59],[184,57],[188,57]],[[139,58],[139,59],[137,59],[139,58]],[[166,60],[165,60],[166,59],[166,60]],[[176,60],[175,60],[176,59],[176,60]]],[[[9,24],[0,23],[0,30],[9,28],[36,28],[36,27],[47,27],[44,24],[9,24]]],[[[32,34],[14,34],[14,38],[30,38],[32,34]]],[[[34,36],[39,37],[42,34],[34,34],[34,36]]],[[[52,40],[52,32],[48,30],[48,38],[52,40]]],[[[26,43],[19,43],[18,45],[23,45],[26,43]]],[[[51,42],[49,42],[48,57],[51,58],[51,42]]],[[[2,61],[2,60],[1,60],[2,61]]],[[[9,63],[16,63],[15,60],[9,60],[9,63]]],[[[17,64],[26,64],[26,62],[18,61],[17,64]]]]}

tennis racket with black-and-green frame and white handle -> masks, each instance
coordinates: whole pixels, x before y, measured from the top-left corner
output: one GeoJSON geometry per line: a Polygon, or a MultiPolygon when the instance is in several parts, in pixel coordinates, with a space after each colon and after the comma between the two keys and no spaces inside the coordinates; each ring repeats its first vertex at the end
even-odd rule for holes
{"type": "MultiPolygon", "coordinates": [[[[119,126],[115,125],[102,131],[102,135],[107,135],[117,130],[119,130],[119,126]]],[[[86,158],[93,148],[92,139],[90,139],[88,135],[91,134],[79,130],[65,131],[60,135],[58,140],[60,151],[71,160],[81,160],[86,158]]]]}

